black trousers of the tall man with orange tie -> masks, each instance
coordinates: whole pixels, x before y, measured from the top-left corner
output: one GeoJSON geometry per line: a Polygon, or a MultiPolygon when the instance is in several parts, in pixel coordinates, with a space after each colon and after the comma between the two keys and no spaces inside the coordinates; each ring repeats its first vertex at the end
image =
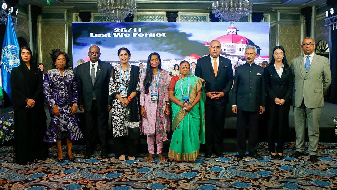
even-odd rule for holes
{"type": "Polygon", "coordinates": [[[221,151],[227,104],[207,104],[205,106],[206,151],[221,151]]]}

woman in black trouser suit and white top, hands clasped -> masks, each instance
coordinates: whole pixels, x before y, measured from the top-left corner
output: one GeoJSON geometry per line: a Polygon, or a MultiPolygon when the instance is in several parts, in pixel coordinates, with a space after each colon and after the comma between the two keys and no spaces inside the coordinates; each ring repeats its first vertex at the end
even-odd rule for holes
{"type": "Polygon", "coordinates": [[[290,109],[290,97],[293,92],[293,73],[288,66],[282,46],[273,49],[270,65],[265,68],[266,103],[269,107],[268,150],[271,158],[283,159],[283,143],[287,129],[290,109]],[[275,151],[277,142],[277,154],[275,151]]]}

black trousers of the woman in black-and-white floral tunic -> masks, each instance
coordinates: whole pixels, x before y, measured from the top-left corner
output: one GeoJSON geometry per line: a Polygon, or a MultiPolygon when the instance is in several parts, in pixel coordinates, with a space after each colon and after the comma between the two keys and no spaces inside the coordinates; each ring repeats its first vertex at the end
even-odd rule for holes
{"type": "Polygon", "coordinates": [[[139,128],[128,128],[128,135],[114,138],[115,156],[126,155],[129,157],[138,156],[139,152],[139,128]]]}

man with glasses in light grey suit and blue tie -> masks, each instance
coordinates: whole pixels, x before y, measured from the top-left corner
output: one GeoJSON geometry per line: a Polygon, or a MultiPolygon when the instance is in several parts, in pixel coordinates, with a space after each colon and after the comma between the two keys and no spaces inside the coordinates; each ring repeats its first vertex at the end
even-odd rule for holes
{"type": "Polygon", "coordinates": [[[314,53],[312,38],[306,37],[301,47],[304,55],[294,58],[291,65],[295,76],[293,106],[296,130],[296,152],[292,156],[304,155],[305,125],[308,122],[308,152],[310,161],[316,162],[323,92],[331,84],[331,70],[328,58],[314,53]]]}

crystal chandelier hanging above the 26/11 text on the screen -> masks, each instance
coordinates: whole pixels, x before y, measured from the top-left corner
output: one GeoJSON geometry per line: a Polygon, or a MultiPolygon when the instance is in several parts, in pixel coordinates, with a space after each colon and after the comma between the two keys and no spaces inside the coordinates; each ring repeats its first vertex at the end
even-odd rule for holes
{"type": "Polygon", "coordinates": [[[98,13],[108,15],[116,22],[120,22],[127,16],[137,12],[136,0],[97,0],[98,13]]]}

